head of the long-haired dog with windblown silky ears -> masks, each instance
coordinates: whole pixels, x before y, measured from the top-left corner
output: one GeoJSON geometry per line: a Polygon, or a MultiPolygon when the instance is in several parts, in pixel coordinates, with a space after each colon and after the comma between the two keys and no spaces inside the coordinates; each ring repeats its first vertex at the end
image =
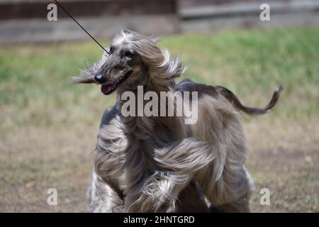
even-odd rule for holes
{"type": "Polygon", "coordinates": [[[157,40],[123,29],[117,33],[108,53],[83,71],[82,77],[72,78],[73,83],[96,83],[103,94],[118,88],[133,89],[148,79],[164,84],[182,73],[179,56],[169,59],[168,50],[160,50],[157,40]],[[152,75],[152,77],[150,76],[152,75]]]}

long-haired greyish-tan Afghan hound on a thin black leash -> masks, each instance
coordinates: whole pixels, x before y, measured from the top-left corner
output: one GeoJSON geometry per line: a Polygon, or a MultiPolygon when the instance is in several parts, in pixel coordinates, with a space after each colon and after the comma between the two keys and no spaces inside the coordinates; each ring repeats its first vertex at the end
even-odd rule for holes
{"type": "MultiPolygon", "coordinates": [[[[123,29],[99,62],[72,82],[96,83],[103,94],[116,91],[116,104],[104,112],[97,136],[89,210],[93,212],[248,212],[252,179],[244,166],[247,142],[240,111],[271,111],[282,87],[264,109],[243,106],[225,87],[179,77],[179,56],[160,50],[157,40],[123,29]],[[198,119],[186,116],[124,116],[122,95],[196,92],[198,119]]],[[[193,94],[193,93],[192,93],[193,94]]],[[[195,94],[195,93],[194,93],[195,94]]],[[[166,96],[164,109],[176,96],[166,96]]],[[[191,106],[181,97],[184,106],[191,106]]],[[[136,108],[135,112],[139,111],[136,108]]],[[[159,106],[157,111],[163,109],[159,106]]]]}

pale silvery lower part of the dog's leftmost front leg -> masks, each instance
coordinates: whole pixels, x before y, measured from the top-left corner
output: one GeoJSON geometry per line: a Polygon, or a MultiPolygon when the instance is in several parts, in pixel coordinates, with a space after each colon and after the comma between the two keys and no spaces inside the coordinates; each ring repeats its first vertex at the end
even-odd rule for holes
{"type": "Polygon", "coordinates": [[[123,211],[121,192],[116,187],[93,172],[89,188],[89,211],[94,213],[113,213],[123,211]]]}

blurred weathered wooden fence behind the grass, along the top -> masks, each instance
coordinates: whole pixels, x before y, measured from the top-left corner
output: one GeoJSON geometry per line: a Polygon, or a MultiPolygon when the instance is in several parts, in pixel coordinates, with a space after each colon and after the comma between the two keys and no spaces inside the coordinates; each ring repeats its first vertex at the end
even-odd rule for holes
{"type": "MultiPolygon", "coordinates": [[[[0,43],[82,40],[87,35],[53,0],[0,0],[0,43]]],[[[319,23],[318,0],[60,0],[92,35],[109,38],[121,28],[144,34],[211,33],[223,28],[276,27],[319,23]],[[260,21],[259,6],[271,6],[271,21],[260,21]]]]}

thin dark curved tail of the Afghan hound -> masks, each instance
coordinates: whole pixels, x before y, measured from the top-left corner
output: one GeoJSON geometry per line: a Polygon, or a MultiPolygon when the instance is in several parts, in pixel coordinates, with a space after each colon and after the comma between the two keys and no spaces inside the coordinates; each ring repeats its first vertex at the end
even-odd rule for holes
{"type": "Polygon", "coordinates": [[[278,102],[283,86],[280,85],[279,87],[276,88],[276,90],[274,91],[274,94],[272,95],[272,99],[269,101],[269,104],[265,106],[264,108],[253,108],[253,107],[244,106],[242,105],[240,100],[237,98],[237,96],[235,96],[235,94],[233,94],[233,92],[230,92],[230,90],[228,90],[227,88],[216,86],[216,89],[222,96],[228,99],[228,101],[230,101],[230,103],[232,103],[236,109],[243,111],[246,114],[258,115],[258,114],[267,114],[274,109],[274,106],[276,106],[276,103],[278,102]]]}

